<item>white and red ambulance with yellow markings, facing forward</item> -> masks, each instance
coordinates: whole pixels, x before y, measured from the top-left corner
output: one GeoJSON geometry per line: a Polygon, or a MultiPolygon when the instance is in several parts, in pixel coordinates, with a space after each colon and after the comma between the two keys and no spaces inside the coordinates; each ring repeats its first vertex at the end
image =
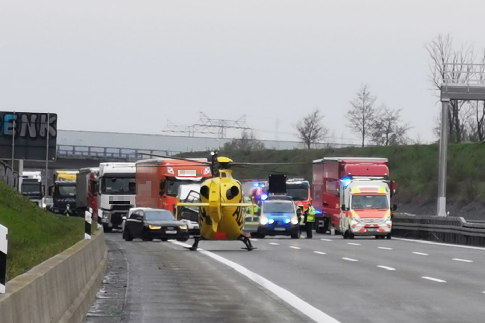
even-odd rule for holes
{"type": "MultiPolygon", "coordinates": [[[[355,178],[343,183],[340,194],[340,231],[345,239],[373,235],[390,239],[391,190],[384,180],[355,178]]],[[[396,210],[394,205],[392,210],[396,210]]]]}

